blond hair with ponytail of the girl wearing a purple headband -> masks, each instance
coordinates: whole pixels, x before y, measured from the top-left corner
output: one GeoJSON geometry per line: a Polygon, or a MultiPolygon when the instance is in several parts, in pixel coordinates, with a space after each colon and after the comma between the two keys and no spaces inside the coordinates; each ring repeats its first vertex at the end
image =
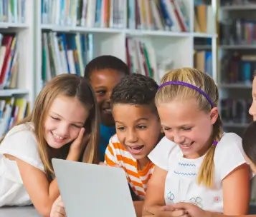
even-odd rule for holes
{"type": "MultiPolygon", "coordinates": [[[[211,99],[212,103],[216,107],[219,101],[219,91],[215,85],[213,79],[202,71],[197,69],[182,68],[174,71],[169,71],[163,79],[161,84],[168,81],[183,81],[188,84],[192,84],[201,89],[211,99]]],[[[181,85],[167,85],[161,87],[156,94],[156,105],[165,103],[176,98],[179,99],[196,99],[199,103],[199,109],[209,112],[212,109],[211,104],[207,101],[207,98],[198,91],[181,85]]],[[[217,121],[213,126],[212,141],[219,141],[222,138],[222,121],[218,116],[217,121]]],[[[202,162],[202,166],[199,169],[199,175],[197,181],[199,184],[211,187],[214,180],[214,151],[216,146],[212,145],[202,162]]]]}

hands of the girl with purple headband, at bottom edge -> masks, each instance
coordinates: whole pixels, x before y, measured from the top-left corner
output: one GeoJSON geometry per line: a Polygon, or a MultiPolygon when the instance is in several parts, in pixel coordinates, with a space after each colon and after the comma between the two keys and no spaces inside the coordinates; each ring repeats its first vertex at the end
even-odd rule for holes
{"type": "Polygon", "coordinates": [[[174,208],[172,205],[162,207],[151,207],[148,208],[146,211],[147,213],[151,214],[148,214],[148,216],[143,217],[191,217],[186,210],[174,208]]]}

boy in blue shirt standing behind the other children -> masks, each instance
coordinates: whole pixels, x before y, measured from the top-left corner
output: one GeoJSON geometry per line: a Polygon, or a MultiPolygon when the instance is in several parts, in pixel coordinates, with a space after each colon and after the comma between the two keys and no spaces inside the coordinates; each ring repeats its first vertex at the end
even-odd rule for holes
{"type": "Polygon", "coordinates": [[[105,148],[115,134],[115,122],[110,111],[110,94],[123,76],[129,74],[128,66],[115,56],[98,56],[87,64],[85,78],[90,80],[100,109],[100,161],[104,161],[105,148]]]}

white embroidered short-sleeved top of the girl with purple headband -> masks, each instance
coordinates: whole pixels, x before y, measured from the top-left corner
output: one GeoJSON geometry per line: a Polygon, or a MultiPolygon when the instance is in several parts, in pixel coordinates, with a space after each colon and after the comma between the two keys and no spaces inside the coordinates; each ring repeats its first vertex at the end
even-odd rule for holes
{"type": "MultiPolygon", "coordinates": [[[[204,155],[205,156],[205,155],[204,155]]],[[[190,202],[207,211],[223,213],[222,180],[246,163],[242,139],[235,133],[224,133],[214,153],[214,187],[197,184],[197,174],[204,156],[196,159],[183,157],[176,143],[163,137],[149,158],[156,166],[168,171],[165,183],[166,204],[190,202]]]]}

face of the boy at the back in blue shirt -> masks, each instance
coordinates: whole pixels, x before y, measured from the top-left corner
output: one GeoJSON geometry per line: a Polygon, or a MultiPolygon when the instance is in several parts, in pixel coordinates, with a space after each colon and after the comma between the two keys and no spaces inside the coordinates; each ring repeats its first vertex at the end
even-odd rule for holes
{"type": "Polygon", "coordinates": [[[93,86],[95,96],[100,109],[101,123],[105,126],[115,126],[111,109],[110,96],[115,85],[117,85],[125,74],[113,69],[93,71],[90,83],[93,86]]]}

